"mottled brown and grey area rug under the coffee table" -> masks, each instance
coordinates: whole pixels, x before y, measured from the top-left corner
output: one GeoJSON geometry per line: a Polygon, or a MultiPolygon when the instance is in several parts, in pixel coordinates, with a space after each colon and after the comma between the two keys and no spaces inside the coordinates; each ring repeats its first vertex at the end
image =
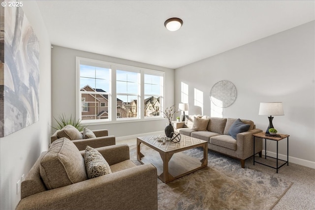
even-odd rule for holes
{"type": "MultiPolygon", "coordinates": [[[[157,152],[141,145],[143,154],[157,152]]],[[[202,149],[185,151],[198,159],[202,149]]],[[[136,146],[130,159],[137,165],[136,146]]],[[[208,151],[208,167],[167,184],[158,179],[158,210],[270,210],[292,185],[255,169],[242,169],[240,161],[208,151]]]]}

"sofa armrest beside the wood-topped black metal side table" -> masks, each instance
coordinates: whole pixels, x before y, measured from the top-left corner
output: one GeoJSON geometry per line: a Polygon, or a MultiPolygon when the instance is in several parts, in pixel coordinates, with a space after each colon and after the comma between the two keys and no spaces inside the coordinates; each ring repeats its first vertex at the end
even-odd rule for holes
{"type": "MultiPolygon", "coordinates": [[[[236,135],[237,150],[243,151],[242,158],[246,159],[253,155],[253,137],[252,134],[262,132],[261,129],[252,129],[246,132],[238,133],[236,135]]],[[[255,142],[255,153],[262,150],[262,140],[255,142]]]]}

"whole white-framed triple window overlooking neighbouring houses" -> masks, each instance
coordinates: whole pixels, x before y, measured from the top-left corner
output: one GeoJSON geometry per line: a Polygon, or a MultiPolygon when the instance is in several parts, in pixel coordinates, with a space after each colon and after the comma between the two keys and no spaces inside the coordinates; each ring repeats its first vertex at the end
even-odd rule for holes
{"type": "Polygon", "coordinates": [[[77,57],[77,119],[161,118],[164,72],[77,57]]]}

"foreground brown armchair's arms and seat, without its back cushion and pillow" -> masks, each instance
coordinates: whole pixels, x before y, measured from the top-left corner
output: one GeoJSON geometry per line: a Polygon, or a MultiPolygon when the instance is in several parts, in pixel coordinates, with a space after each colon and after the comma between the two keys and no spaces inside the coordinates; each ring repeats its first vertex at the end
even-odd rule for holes
{"type": "MultiPolygon", "coordinates": [[[[111,174],[51,190],[46,189],[40,174],[41,159],[47,151],[43,152],[22,182],[16,210],[158,209],[157,169],[153,165],[136,166],[129,160],[127,145],[97,150],[109,163],[111,174]]],[[[80,152],[84,155],[84,151],[80,152]]]]}

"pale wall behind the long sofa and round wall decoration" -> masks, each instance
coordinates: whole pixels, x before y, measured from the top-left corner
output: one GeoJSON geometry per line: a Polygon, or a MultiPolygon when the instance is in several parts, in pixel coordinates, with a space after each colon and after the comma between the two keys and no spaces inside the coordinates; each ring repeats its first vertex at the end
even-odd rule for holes
{"type": "MultiPolygon", "coordinates": [[[[211,115],[212,86],[229,80],[236,86],[233,105],[221,110],[224,118],[253,120],[266,130],[267,116],[258,116],[260,102],[283,102],[284,116],[274,116],[279,133],[289,134],[289,161],[315,168],[315,22],[254,41],[219,55],[175,69],[175,102],[181,101],[181,82],[203,92],[203,115],[211,115]],[[193,72],[193,73],[192,73],[193,72]]],[[[189,111],[189,114],[199,114],[189,111]]],[[[200,113],[201,114],[201,113],[200,113]]],[[[286,141],[279,142],[286,154],[286,141]]],[[[276,152],[276,145],[267,143],[276,152]]]]}

